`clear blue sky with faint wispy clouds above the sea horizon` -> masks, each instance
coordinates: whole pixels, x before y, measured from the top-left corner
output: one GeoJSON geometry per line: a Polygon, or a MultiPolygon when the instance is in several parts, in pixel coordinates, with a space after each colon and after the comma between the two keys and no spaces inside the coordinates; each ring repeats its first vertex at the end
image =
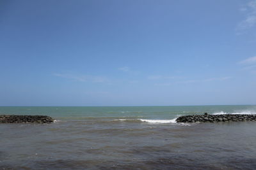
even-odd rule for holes
{"type": "Polygon", "coordinates": [[[0,106],[256,104],[256,0],[0,1],[0,106]]]}

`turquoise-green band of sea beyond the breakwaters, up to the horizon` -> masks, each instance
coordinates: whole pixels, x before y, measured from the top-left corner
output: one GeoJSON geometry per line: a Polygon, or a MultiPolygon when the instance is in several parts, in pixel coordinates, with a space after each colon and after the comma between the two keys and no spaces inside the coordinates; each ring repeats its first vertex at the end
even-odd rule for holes
{"type": "Polygon", "coordinates": [[[143,117],[172,119],[202,113],[255,113],[256,106],[0,107],[0,114],[49,115],[57,119],[143,117]]]}

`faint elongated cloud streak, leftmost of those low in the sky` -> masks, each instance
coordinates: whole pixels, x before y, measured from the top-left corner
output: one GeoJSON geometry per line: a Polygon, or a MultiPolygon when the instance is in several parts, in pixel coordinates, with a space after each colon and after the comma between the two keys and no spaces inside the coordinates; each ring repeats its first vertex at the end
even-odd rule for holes
{"type": "Polygon", "coordinates": [[[108,78],[102,76],[91,76],[91,75],[74,75],[74,74],[61,74],[61,73],[54,73],[54,76],[67,78],[73,81],[91,81],[91,82],[106,82],[109,81],[108,78]]]}

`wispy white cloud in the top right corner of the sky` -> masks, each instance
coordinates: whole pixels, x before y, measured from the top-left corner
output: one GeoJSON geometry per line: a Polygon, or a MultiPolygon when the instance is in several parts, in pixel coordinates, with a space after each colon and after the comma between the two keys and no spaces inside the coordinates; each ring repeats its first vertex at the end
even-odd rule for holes
{"type": "Polygon", "coordinates": [[[256,0],[247,3],[240,11],[242,11],[246,17],[237,25],[237,34],[241,34],[241,31],[256,26],[256,0]]]}

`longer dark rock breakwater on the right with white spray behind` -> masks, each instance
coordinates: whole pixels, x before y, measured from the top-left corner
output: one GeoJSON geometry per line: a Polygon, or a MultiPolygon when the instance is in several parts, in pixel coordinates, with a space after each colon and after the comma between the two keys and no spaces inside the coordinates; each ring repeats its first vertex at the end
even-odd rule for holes
{"type": "Polygon", "coordinates": [[[199,123],[199,122],[239,122],[256,121],[256,115],[187,115],[176,119],[180,123],[199,123]]]}

